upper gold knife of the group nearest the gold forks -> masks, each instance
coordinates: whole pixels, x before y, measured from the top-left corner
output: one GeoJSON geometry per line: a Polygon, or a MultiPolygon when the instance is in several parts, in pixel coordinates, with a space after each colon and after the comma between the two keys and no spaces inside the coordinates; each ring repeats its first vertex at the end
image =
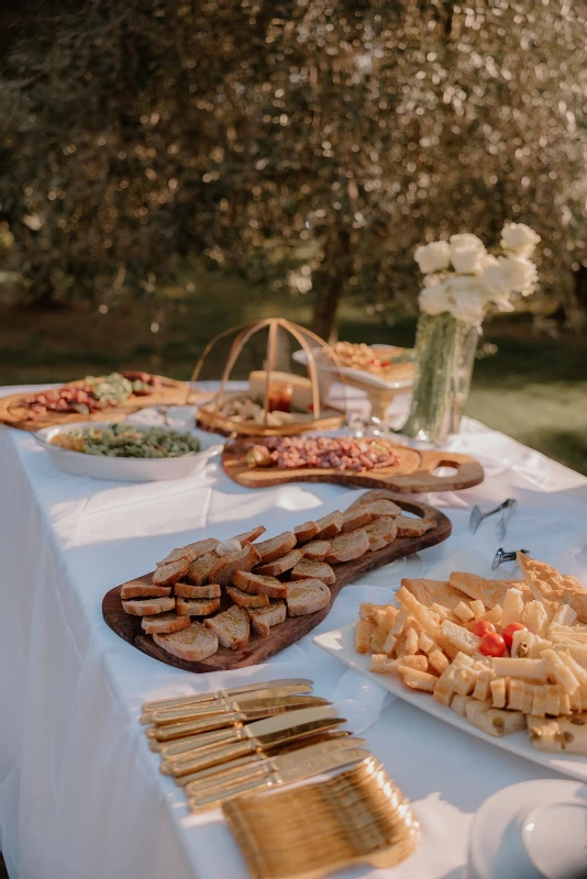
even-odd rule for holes
{"type": "Polygon", "coordinates": [[[280,760],[283,757],[291,757],[294,765],[297,764],[297,761],[301,763],[310,757],[318,757],[321,754],[332,754],[347,748],[359,748],[365,745],[365,739],[355,736],[337,736],[336,733],[331,733],[321,742],[315,742],[313,738],[302,738],[295,744],[297,744],[298,747],[291,748],[290,750],[278,750],[270,756],[262,753],[253,754],[248,757],[241,757],[239,760],[232,760],[230,764],[224,764],[220,767],[212,766],[210,769],[202,769],[201,772],[191,772],[189,776],[181,776],[177,778],[176,781],[180,787],[187,788],[190,794],[196,794],[199,791],[207,793],[212,788],[234,785],[248,776],[258,775],[262,777],[274,767],[274,760],[280,760]]]}

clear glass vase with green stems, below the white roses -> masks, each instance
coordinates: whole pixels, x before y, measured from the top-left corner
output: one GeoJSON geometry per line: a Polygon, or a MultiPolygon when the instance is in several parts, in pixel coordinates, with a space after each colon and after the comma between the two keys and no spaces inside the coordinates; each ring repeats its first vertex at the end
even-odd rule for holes
{"type": "Polygon", "coordinates": [[[456,433],[470,388],[480,326],[452,314],[421,313],[416,333],[416,376],[407,436],[442,445],[456,433]]]}

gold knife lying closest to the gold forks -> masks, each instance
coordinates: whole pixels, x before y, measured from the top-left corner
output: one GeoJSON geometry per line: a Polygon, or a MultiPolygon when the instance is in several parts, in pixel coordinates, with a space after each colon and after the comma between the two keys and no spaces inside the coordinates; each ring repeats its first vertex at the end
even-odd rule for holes
{"type": "MultiPolygon", "coordinates": [[[[313,748],[307,748],[307,750],[311,752],[313,748]]],[[[340,769],[343,766],[361,763],[367,757],[370,757],[370,754],[364,748],[342,748],[330,754],[309,754],[308,756],[304,756],[301,752],[285,754],[268,760],[269,765],[264,772],[243,775],[239,781],[232,785],[218,785],[208,791],[201,789],[192,791],[192,785],[188,785],[189,809],[190,812],[213,809],[226,800],[234,799],[234,797],[259,793],[269,788],[291,785],[294,781],[303,781],[303,779],[329,772],[332,769],[340,769]]]]}

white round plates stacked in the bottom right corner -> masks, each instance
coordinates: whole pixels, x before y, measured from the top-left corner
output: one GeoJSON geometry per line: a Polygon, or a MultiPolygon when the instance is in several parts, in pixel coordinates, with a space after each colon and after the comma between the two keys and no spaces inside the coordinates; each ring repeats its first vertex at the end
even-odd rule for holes
{"type": "Polygon", "coordinates": [[[503,788],[475,815],[466,879],[578,879],[587,865],[586,822],[587,787],[577,781],[503,788]]]}

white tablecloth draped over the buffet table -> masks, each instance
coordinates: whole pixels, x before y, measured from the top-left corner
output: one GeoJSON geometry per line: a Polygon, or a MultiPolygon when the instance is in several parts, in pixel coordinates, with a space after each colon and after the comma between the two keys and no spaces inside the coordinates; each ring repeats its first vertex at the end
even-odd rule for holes
{"type": "MultiPolygon", "coordinates": [[[[448,541],[421,554],[427,570],[463,546],[491,558],[495,526],[473,536],[470,507],[514,497],[520,507],[507,548],[524,546],[587,581],[586,479],[472,421],[450,447],[475,455],[486,480],[424,498],[454,527],[448,541]]],[[[384,704],[378,687],[365,687],[311,635],[263,666],[196,676],[143,655],[103,622],[103,594],[170,548],[259,523],[277,534],[347,504],[348,489],[247,491],[218,463],[177,482],[99,482],[57,470],[32,436],[7,427],[0,466],[0,830],[11,879],[246,876],[221,813],[188,813],[137,721],[145,699],[236,680],[313,678],[411,799],[423,830],[418,853],[395,870],[353,876],[456,879],[481,802],[513,782],[549,777],[400,700],[384,704]]],[[[397,567],[372,585],[346,587],[318,631],[355,619],[361,601],[381,601],[403,574],[397,567]]]]}

